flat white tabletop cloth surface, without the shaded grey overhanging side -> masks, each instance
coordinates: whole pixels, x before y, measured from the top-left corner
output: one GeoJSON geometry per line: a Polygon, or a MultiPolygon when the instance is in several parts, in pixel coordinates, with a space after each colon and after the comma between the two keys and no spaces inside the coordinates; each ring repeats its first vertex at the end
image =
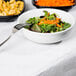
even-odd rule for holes
{"type": "MultiPolygon", "coordinates": [[[[26,10],[36,9],[31,0],[26,0],[26,10]]],[[[76,7],[69,11],[76,20],[76,7]]],[[[16,25],[14,22],[1,22],[3,28],[16,25]]],[[[76,29],[68,40],[58,44],[42,45],[26,39],[22,31],[18,31],[11,39],[0,47],[0,76],[36,76],[53,66],[57,60],[76,49],[76,29]],[[50,65],[49,65],[50,64],[50,65]]]]}

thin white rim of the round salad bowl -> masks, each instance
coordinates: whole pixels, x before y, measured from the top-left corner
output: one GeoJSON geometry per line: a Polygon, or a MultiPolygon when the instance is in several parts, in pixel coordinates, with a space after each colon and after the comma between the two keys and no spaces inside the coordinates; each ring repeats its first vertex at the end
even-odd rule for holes
{"type": "MultiPolygon", "coordinates": [[[[63,31],[59,31],[59,32],[55,32],[55,33],[40,33],[40,32],[34,32],[34,31],[31,31],[31,30],[28,30],[28,29],[25,29],[26,31],[29,31],[29,32],[32,32],[32,33],[37,33],[37,34],[59,34],[59,33],[63,33],[63,32],[66,32],[66,31],[69,31],[70,29],[72,29],[73,27],[74,27],[74,25],[75,25],[75,19],[74,19],[74,17],[70,14],[70,13],[68,13],[68,12],[66,12],[66,11],[63,11],[63,10],[59,10],[59,9],[54,9],[54,8],[51,8],[52,10],[58,10],[58,11],[62,11],[62,12],[64,12],[64,13],[67,13],[71,18],[72,18],[72,20],[73,20],[73,24],[71,25],[71,27],[69,27],[69,28],[67,28],[66,30],[63,30],[63,31]]],[[[22,15],[24,15],[24,14],[27,14],[27,13],[29,13],[29,12],[32,12],[32,11],[36,11],[36,10],[51,10],[50,8],[41,8],[41,9],[33,9],[33,10],[29,10],[29,11],[27,11],[27,12],[24,12],[23,14],[21,14],[19,17],[18,17],[18,19],[17,19],[17,24],[19,24],[20,22],[19,22],[19,20],[21,19],[21,17],[22,17],[22,15]]]]}

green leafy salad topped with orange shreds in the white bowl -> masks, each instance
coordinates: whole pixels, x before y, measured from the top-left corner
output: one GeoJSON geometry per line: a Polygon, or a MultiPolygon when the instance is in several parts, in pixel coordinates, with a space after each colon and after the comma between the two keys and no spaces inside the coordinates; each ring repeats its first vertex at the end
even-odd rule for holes
{"type": "Polygon", "coordinates": [[[64,22],[56,13],[50,14],[48,11],[43,11],[44,16],[33,17],[26,21],[30,26],[24,28],[40,33],[54,33],[66,30],[71,24],[64,22]]]}

